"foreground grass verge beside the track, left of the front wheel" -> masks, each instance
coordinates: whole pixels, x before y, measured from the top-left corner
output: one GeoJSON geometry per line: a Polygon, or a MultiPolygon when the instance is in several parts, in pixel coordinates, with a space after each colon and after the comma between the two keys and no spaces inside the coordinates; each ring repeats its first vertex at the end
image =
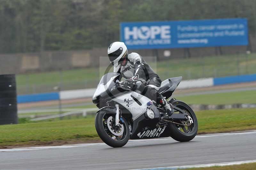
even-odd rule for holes
{"type": "Polygon", "coordinates": [[[86,118],[3,125],[0,127],[0,145],[98,137],[93,120],[86,118]]]}

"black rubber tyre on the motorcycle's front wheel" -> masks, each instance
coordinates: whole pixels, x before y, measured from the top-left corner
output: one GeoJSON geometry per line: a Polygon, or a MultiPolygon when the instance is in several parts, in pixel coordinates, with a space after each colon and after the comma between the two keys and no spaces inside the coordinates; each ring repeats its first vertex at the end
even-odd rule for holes
{"type": "Polygon", "coordinates": [[[106,114],[108,114],[108,115],[112,114],[112,116],[115,117],[115,114],[110,113],[108,111],[104,111],[104,110],[99,111],[97,113],[96,117],[95,117],[95,128],[96,128],[96,131],[97,131],[98,135],[100,136],[100,139],[104,143],[106,143],[108,146],[111,146],[113,148],[124,146],[130,138],[130,130],[129,130],[129,125],[128,125],[127,120],[124,117],[122,117],[123,120],[124,120],[124,123],[123,123],[123,126],[124,126],[123,135],[124,135],[124,137],[122,137],[121,140],[116,141],[116,140],[112,139],[107,134],[107,132],[105,130],[105,127],[103,126],[102,120],[103,120],[103,118],[106,114]]]}

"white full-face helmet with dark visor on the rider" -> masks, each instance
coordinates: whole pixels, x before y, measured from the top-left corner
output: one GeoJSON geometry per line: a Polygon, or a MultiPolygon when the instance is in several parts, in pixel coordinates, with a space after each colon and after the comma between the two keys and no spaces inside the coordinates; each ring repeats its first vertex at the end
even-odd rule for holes
{"type": "Polygon", "coordinates": [[[128,50],[123,42],[114,42],[108,47],[108,58],[114,67],[117,67],[118,63],[127,55],[128,50]]]}

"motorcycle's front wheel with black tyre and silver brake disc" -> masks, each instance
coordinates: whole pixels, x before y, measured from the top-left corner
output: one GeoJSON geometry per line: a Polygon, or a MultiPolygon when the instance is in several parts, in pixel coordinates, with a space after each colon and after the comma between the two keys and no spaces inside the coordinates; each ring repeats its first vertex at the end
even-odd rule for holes
{"type": "Polygon", "coordinates": [[[115,126],[115,114],[106,110],[99,111],[95,117],[95,128],[100,139],[113,148],[124,146],[130,138],[129,124],[124,117],[122,119],[124,123],[115,126]]]}

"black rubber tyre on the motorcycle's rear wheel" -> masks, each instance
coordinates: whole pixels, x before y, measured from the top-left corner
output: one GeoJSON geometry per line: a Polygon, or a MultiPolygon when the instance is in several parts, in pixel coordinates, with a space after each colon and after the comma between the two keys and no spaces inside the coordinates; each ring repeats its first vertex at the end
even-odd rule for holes
{"type": "Polygon", "coordinates": [[[197,124],[197,119],[196,119],[196,114],[195,112],[191,109],[191,107],[179,100],[172,100],[171,104],[179,107],[182,110],[185,110],[186,112],[188,112],[189,116],[193,119],[194,121],[194,125],[193,128],[190,132],[188,133],[184,133],[181,132],[180,129],[178,128],[179,125],[174,124],[174,123],[168,123],[169,125],[169,129],[170,129],[170,136],[179,142],[188,142],[191,141],[192,139],[194,139],[194,137],[197,134],[197,129],[198,129],[198,124],[197,124]]]}

